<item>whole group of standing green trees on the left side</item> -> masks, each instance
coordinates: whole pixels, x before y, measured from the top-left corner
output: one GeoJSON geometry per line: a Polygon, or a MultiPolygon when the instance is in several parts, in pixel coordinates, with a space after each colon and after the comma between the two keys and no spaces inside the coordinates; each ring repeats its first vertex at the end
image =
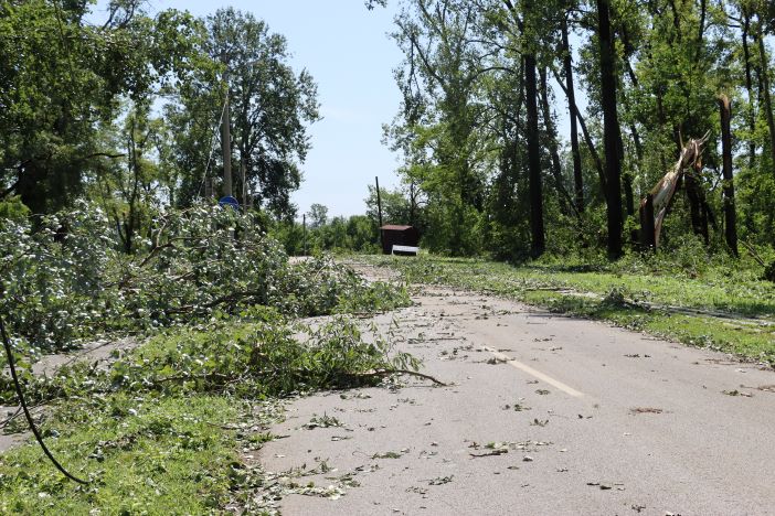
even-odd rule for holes
{"type": "Polygon", "coordinates": [[[147,206],[189,205],[223,176],[229,93],[240,202],[293,216],[318,104],[285,37],[234,9],[145,6],[114,0],[97,23],[91,2],[0,3],[0,201],[46,214],[96,197],[131,250],[147,206]]]}

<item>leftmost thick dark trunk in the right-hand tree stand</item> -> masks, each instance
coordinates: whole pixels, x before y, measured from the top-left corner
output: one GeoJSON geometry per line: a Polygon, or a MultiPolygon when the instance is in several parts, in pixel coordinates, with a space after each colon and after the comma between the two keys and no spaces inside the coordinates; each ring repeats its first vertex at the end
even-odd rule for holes
{"type": "Polygon", "coordinates": [[[528,108],[528,178],[530,183],[530,251],[539,257],[545,249],[543,233],[543,193],[541,185],[541,149],[538,126],[538,92],[535,85],[535,56],[524,56],[524,89],[528,108]]]}

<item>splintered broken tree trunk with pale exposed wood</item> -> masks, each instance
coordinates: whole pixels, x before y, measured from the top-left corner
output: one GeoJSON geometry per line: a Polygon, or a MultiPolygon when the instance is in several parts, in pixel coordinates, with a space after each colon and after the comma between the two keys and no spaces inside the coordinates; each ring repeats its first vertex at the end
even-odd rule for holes
{"type": "Polygon", "coordinates": [[[640,201],[640,241],[645,248],[659,247],[659,235],[662,230],[662,222],[670,206],[670,201],[676,194],[678,183],[683,175],[683,171],[690,166],[697,172],[702,169],[702,151],[710,132],[699,140],[689,140],[683,149],[678,162],[665,176],[651,189],[651,192],[640,201]]]}

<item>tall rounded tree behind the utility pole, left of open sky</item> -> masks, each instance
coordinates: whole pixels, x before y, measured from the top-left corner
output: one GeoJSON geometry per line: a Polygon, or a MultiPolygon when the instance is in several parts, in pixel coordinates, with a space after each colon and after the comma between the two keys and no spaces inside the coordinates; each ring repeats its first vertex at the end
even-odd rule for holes
{"type": "MultiPolygon", "coordinates": [[[[227,93],[229,122],[240,154],[235,163],[241,169],[234,174],[234,190],[238,197],[245,192],[259,207],[287,218],[294,209],[290,193],[299,187],[300,164],[310,148],[307,127],[319,118],[317,86],[308,72],[296,73],[287,63],[286,39],[270,33],[266,23],[252,14],[220,9],[206,19],[206,26],[203,51],[221,69],[203,74],[183,88],[173,118],[180,125],[199,119],[198,126],[205,130],[191,135],[193,146],[183,137],[181,157],[189,161],[189,155],[212,147],[212,131],[206,128],[225,111],[227,93]],[[229,84],[223,84],[224,77],[229,84]]],[[[209,155],[197,157],[197,174],[188,179],[193,186],[188,189],[189,201],[200,193],[202,174],[211,174],[202,170],[211,160],[223,165],[209,155]]]]}

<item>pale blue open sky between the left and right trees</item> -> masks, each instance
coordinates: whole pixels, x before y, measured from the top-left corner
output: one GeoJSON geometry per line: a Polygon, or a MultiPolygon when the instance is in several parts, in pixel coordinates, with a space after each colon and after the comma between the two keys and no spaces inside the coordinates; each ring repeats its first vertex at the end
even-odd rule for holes
{"type": "Polygon", "coordinates": [[[328,206],[330,216],[362,214],[375,175],[380,186],[400,184],[396,158],[381,143],[382,123],[392,120],[400,101],[393,68],[402,54],[386,35],[392,10],[369,11],[363,0],[150,0],[149,6],[151,12],[173,8],[200,17],[232,6],[287,37],[291,65],[307,68],[318,84],[323,117],[310,127],[312,150],[293,196],[299,217],[312,203],[328,206]]]}

